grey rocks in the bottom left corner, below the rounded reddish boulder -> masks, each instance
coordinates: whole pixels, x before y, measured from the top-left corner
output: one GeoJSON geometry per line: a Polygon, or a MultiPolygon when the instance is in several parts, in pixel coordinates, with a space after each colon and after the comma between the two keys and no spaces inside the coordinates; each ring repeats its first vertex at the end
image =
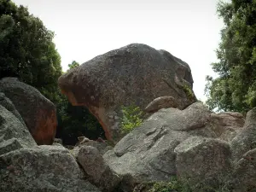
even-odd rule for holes
{"type": "Polygon", "coordinates": [[[87,180],[67,148],[38,146],[20,113],[5,99],[0,102],[7,107],[0,104],[0,191],[101,191],[87,180]]]}

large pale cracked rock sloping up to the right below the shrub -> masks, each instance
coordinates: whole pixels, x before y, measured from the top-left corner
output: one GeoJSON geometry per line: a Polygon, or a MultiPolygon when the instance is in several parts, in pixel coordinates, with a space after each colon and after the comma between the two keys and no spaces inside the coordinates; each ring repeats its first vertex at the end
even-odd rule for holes
{"type": "MultiPolygon", "coordinates": [[[[210,112],[201,102],[183,111],[160,109],[103,157],[119,175],[130,175],[137,182],[168,180],[177,173],[174,148],[203,129],[209,117],[210,112]]],[[[201,132],[214,136],[211,130],[201,132]]]]}

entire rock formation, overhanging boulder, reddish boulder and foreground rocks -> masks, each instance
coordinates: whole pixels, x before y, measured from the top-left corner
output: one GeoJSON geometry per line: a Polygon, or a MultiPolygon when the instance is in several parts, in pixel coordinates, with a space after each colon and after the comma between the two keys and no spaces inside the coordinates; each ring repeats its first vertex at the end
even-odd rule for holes
{"type": "Polygon", "coordinates": [[[70,150],[60,139],[38,146],[53,141],[53,104],[17,79],[2,79],[0,191],[147,192],[143,186],[172,176],[193,192],[256,190],[256,108],[246,118],[212,113],[195,102],[187,64],[166,51],[131,44],[59,84],[73,104],[90,108],[108,139],[118,136],[120,104],[135,102],[148,117],[113,148],[86,137],[70,150]]]}

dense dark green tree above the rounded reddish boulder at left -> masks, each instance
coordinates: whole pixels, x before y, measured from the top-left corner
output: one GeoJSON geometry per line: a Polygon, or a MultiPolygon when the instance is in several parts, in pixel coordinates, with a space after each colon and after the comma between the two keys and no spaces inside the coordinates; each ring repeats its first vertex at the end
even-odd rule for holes
{"type": "Polygon", "coordinates": [[[0,79],[17,77],[57,102],[61,56],[53,38],[54,32],[27,8],[0,0],[0,79]]]}

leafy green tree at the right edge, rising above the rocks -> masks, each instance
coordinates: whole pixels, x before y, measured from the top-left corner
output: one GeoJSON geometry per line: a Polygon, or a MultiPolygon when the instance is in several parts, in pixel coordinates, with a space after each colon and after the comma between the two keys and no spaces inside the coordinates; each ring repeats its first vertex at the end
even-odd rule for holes
{"type": "Polygon", "coordinates": [[[217,79],[207,76],[209,108],[247,112],[256,107],[256,0],[218,3],[224,20],[218,62],[212,69],[217,79]]]}

